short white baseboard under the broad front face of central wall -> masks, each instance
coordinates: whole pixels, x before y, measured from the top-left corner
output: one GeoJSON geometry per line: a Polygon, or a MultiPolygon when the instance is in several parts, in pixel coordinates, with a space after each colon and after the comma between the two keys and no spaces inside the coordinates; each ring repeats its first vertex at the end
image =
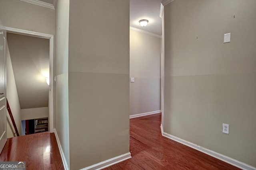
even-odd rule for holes
{"type": "Polygon", "coordinates": [[[88,167],[83,168],[81,170],[101,170],[103,168],[106,168],[108,166],[117,164],[119,162],[122,162],[122,161],[124,161],[126,159],[130,159],[130,158],[132,158],[132,156],[131,156],[131,153],[128,152],[126,154],[122,154],[120,156],[116,156],[114,158],[111,158],[111,159],[105,160],[103,162],[100,162],[98,164],[94,164],[92,166],[88,166],[88,167]]]}

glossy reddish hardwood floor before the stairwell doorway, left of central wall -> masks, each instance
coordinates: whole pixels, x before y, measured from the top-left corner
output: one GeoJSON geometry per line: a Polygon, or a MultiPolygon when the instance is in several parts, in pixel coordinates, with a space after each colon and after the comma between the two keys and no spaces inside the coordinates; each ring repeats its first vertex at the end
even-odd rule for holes
{"type": "Polygon", "coordinates": [[[26,170],[64,170],[54,133],[8,138],[0,161],[24,161],[26,170]]]}

